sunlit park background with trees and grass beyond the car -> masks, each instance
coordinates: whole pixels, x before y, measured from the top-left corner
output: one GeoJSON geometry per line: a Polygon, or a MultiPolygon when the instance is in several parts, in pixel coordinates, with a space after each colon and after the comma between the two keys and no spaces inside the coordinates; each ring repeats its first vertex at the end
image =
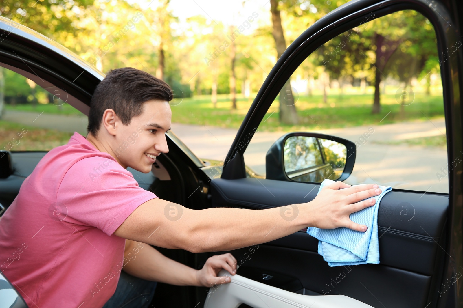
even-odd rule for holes
{"type": "MultiPolygon", "coordinates": [[[[2,0],[0,13],[101,72],[132,66],[165,80],[175,93],[173,123],[236,130],[282,51],[345,2],[2,0]]],[[[356,30],[342,48],[333,39],[308,57],[290,80],[295,113],[282,117],[277,97],[259,130],[282,134],[442,119],[432,25],[416,12],[394,14],[356,30]],[[398,93],[402,87],[409,91],[398,93]],[[413,103],[400,103],[411,95],[413,103]]],[[[12,151],[50,150],[67,143],[73,131],[15,123],[8,114],[43,112],[86,121],[67,103],[5,68],[0,68],[0,108],[0,148],[18,129],[28,129],[27,142],[12,151]]],[[[389,143],[394,142],[442,148],[445,136],[415,135],[389,143]]]]}

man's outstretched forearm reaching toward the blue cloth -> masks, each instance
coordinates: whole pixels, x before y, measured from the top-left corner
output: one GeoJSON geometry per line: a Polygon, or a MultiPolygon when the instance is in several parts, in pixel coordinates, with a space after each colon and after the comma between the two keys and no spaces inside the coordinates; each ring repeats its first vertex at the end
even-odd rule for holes
{"type": "Polygon", "coordinates": [[[273,241],[307,227],[302,205],[265,210],[185,208],[183,223],[192,252],[225,251],[273,241]],[[246,223],[249,222],[249,223],[246,223]]]}

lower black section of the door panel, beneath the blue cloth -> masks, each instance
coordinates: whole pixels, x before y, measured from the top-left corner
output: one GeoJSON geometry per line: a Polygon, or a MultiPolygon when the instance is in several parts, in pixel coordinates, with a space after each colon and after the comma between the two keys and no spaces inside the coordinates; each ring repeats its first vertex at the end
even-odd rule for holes
{"type": "MultiPolygon", "coordinates": [[[[246,249],[231,251],[235,257],[243,256],[246,252],[246,249]]],[[[426,297],[432,280],[431,276],[381,264],[330,267],[315,252],[267,244],[260,245],[252,258],[244,261],[243,267],[237,273],[270,285],[274,278],[283,280],[279,274],[283,278],[289,276],[300,282],[307,295],[313,294],[307,290],[322,295],[342,294],[377,308],[426,307],[429,303],[426,302],[426,297]],[[260,276],[251,274],[248,277],[248,273],[257,271],[261,272],[260,276]],[[264,280],[263,274],[273,274],[274,278],[264,280]]],[[[297,285],[294,280],[289,282],[290,284],[279,287],[291,290],[292,286],[297,285]]]]}

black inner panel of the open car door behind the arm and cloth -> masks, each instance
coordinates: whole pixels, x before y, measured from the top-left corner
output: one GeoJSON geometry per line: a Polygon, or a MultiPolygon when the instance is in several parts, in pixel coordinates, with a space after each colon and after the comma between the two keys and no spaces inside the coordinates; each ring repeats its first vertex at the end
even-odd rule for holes
{"type": "MultiPolygon", "coordinates": [[[[215,179],[211,182],[212,202],[213,206],[263,209],[309,202],[319,186],[254,178],[215,179]]],[[[238,273],[264,283],[262,275],[277,272],[283,276],[278,280],[291,281],[293,288],[298,285],[295,280],[312,292],[343,294],[373,307],[425,307],[438,295],[440,275],[433,273],[444,269],[448,205],[446,194],[387,193],[378,210],[379,265],[330,267],[317,253],[318,240],[304,231],[260,245],[244,262],[239,258],[246,256],[245,249],[231,253],[243,263],[243,273],[238,273]]],[[[280,287],[291,288],[289,284],[280,287]]]]}

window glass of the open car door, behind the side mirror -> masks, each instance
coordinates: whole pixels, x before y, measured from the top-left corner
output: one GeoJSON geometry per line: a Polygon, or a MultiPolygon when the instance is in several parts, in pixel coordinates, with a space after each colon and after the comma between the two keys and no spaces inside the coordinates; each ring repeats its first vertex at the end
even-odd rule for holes
{"type": "Polygon", "coordinates": [[[317,132],[356,144],[348,184],[448,193],[434,28],[412,10],[374,18],[326,42],[295,70],[246,149],[247,166],[264,175],[265,154],[279,137],[317,132]]]}

